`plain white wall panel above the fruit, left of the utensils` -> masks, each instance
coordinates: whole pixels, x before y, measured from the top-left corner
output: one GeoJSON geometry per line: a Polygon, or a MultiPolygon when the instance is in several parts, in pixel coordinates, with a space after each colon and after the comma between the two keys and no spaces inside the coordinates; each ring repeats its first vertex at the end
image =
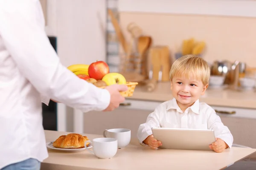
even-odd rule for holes
{"type": "Polygon", "coordinates": [[[105,0],[47,0],[48,35],[57,36],[63,65],[104,60],[105,0]]]}

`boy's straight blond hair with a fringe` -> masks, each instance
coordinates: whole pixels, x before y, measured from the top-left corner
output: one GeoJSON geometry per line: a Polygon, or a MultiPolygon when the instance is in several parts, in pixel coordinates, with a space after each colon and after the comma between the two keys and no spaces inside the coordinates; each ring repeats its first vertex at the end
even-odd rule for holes
{"type": "Polygon", "coordinates": [[[171,68],[170,79],[173,77],[186,77],[191,76],[195,79],[202,80],[204,85],[209,83],[210,68],[208,63],[201,57],[195,55],[185,55],[177,59],[171,68]]]}

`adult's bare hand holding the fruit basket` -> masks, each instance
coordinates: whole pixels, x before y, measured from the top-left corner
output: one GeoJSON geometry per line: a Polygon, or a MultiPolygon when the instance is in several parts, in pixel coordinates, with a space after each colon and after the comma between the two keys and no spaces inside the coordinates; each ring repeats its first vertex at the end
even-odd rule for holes
{"type": "Polygon", "coordinates": [[[110,93],[110,103],[108,108],[104,111],[113,111],[115,108],[119,107],[119,104],[125,101],[125,98],[119,93],[119,91],[127,91],[127,85],[110,85],[105,89],[110,93]]]}

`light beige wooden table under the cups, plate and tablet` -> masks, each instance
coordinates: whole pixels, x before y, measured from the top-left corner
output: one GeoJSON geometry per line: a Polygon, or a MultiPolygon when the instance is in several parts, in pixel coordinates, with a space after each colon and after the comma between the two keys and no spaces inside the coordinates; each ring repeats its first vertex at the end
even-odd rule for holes
{"type": "MultiPolygon", "coordinates": [[[[68,132],[45,130],[47,142],[68,132]]],[[[101,135],[84,134],[88,139],[101,135]]],[[[136,139],[111,159],[98,159],[87,150],[75,153],[48,149],[49,157],[41,170],[220,170],[256,152],[256,149],[232,147],[222,153],[198,150],[151,150],[136,139]]]]}

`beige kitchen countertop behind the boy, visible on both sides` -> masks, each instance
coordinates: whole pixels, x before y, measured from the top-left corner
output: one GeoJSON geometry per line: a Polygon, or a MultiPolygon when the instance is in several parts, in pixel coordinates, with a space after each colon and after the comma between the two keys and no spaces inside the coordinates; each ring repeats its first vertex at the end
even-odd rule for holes
{"type": "MultiPolygon", "coordinates": [[[[137,85],[133,96],[127,99],[149,100],[165,102],[172,99],[170,82],[160,82],[152,92],[146,91],[145,86],[137,85]]],[[[255,91],[235,91],[228,88],[207,88],[205,95],[201,96],[200,102],[206,102],[212,106],[251,108],[256,109],[255,91]]]]}

